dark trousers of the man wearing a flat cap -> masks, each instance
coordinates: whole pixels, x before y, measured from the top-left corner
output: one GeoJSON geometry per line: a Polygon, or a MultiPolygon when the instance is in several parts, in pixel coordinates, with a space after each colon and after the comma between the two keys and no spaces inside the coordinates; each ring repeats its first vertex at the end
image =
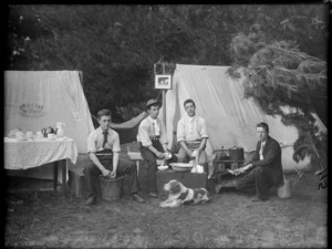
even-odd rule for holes
{"type": "MultiPolygon", "coordinates": [[[[153,141],[153,146],[158,152],[164,152],[164,148],[159,141],[153,141]]],[[[141,155],[146,160],[147,165],[147,189],[148,191],[157,191],[157,183],[156,183],[156,172],[157,172],[157,157],[154,153],[152,153],[148,148],[143,147],[141,145],[141,155]]],[[[172,155],[172,158],[167,160],[167,163],[175,163],[177,162],[177,157],[172,155]]]]}

